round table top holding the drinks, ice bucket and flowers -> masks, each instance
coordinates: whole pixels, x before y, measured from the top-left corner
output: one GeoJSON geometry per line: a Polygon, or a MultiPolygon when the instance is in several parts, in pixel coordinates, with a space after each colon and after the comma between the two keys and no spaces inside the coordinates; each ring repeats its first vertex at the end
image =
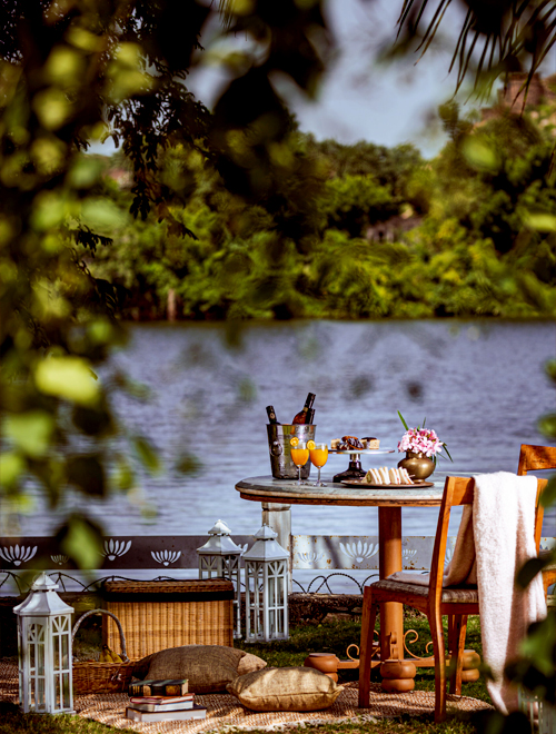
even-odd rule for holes
{"type": "Polygon", "coordinates": [[[399,486],[395,489],[348,487],[322,476],[326,487],[298,486],[295,479],[275,479],[271,476],[248,477],[236,485],[242,499],[287,505],[360,505],[368,507],[437,507],[444,492],[444,476],[430,477],[433,487],[399,486]]]}

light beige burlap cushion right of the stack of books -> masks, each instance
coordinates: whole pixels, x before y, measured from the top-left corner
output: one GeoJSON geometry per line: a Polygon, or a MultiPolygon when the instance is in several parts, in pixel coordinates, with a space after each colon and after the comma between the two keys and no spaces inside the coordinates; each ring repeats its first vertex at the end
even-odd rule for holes
{"type": "Polygon", "coordinates": [[[342,686],[311,667],[266,667],[226,690],[254,711],[318,711],[331,706],[342,686]]]}

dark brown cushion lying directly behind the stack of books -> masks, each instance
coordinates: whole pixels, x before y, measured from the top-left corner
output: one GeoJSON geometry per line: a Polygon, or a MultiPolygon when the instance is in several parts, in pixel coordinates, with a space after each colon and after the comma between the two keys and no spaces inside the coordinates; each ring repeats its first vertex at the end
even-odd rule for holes
{"type": "Polygon", "coordinates": [[[155,653],[147,680],[187,678],[192,693],[225,691],[237,678],[242,649],[225,645],[183,645],[155,653]]]}

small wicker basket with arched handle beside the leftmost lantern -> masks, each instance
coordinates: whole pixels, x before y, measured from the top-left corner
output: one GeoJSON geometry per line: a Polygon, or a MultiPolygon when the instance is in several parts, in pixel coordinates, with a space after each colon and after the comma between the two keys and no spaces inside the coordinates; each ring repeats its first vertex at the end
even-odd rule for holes
{"type": "Polygon", "coordinates": [[[71,642],[79,626],[91,614],[107,614],[116,622],[120,633],[120,657],[123,663],[100,663],[99,661],[73,661],[73,693],[123,693],[127,692],[131,678],[140,676],[139,661],[130,661],[126,652],[126,637],[120,621],[106,609],[86,612],[73,625],[71,642]]]}

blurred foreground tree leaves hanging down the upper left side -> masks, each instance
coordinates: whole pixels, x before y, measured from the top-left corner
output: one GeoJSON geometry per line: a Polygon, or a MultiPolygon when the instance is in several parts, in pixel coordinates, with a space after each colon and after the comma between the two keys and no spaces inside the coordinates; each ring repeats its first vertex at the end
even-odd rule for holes
{"type": "MultiPolygon", "coordinates": [[[[256,202],[260,216],[272,212],[269,258],[305,247],[311,229],[307,196],[297,197],[294,210],[288,197],[295,197],[287,190],[305,160],[282,155],[291,118],[271,77],[281,75],[311,92],[330,41],[320,2],[244,3],[232,13],[229,37],[250,37],[251,52],[234,57],[236,71],[209,112],[188,90],[187,78],[202,56],[201,33],[218,28],[218,8],[210,3],[6,0],[0,22],[0,480],[6,523],[9,508],[24,505],[29,478],[54,508],[69,488],[87,497],[133,486],[128,458],[133,452],[107,460],[106,442],[119,427],[96,375],[122,338],[113,318],[121,288],[92,277],[89,264],[135,217],[152,248],[150,272],[143,277],[163,279],[155,265],[161,222],[170,241],[167,270],[210,272],[211,257],[193,227],[210,229],[214,215],[208,208],[183,215],[190,187],[161,157],[165,150],[182,146],[196,151],[228,190],[256,202]],[[106,136],[130,165],[125,207],[107,196],[101,161],[83,156],[91,140],[106,136]],[[181,251],[183,241],[191,261],[189,251],[181,251]]],[[[266,295],[271,305],[271,291],[266,295]]],[[[115,376],[112,384],[132,389],[123,376],[115,376]]],[[[141,437],[130,439],[131,448],[145,446],[141,437]]],[[[135,454],[146,469],[155,469],[146,460],[149,452],[135,454]]],[[[87,517],[69,516],[59,532],[61,552],[86,563],[97,529],[87,517]]]]}

